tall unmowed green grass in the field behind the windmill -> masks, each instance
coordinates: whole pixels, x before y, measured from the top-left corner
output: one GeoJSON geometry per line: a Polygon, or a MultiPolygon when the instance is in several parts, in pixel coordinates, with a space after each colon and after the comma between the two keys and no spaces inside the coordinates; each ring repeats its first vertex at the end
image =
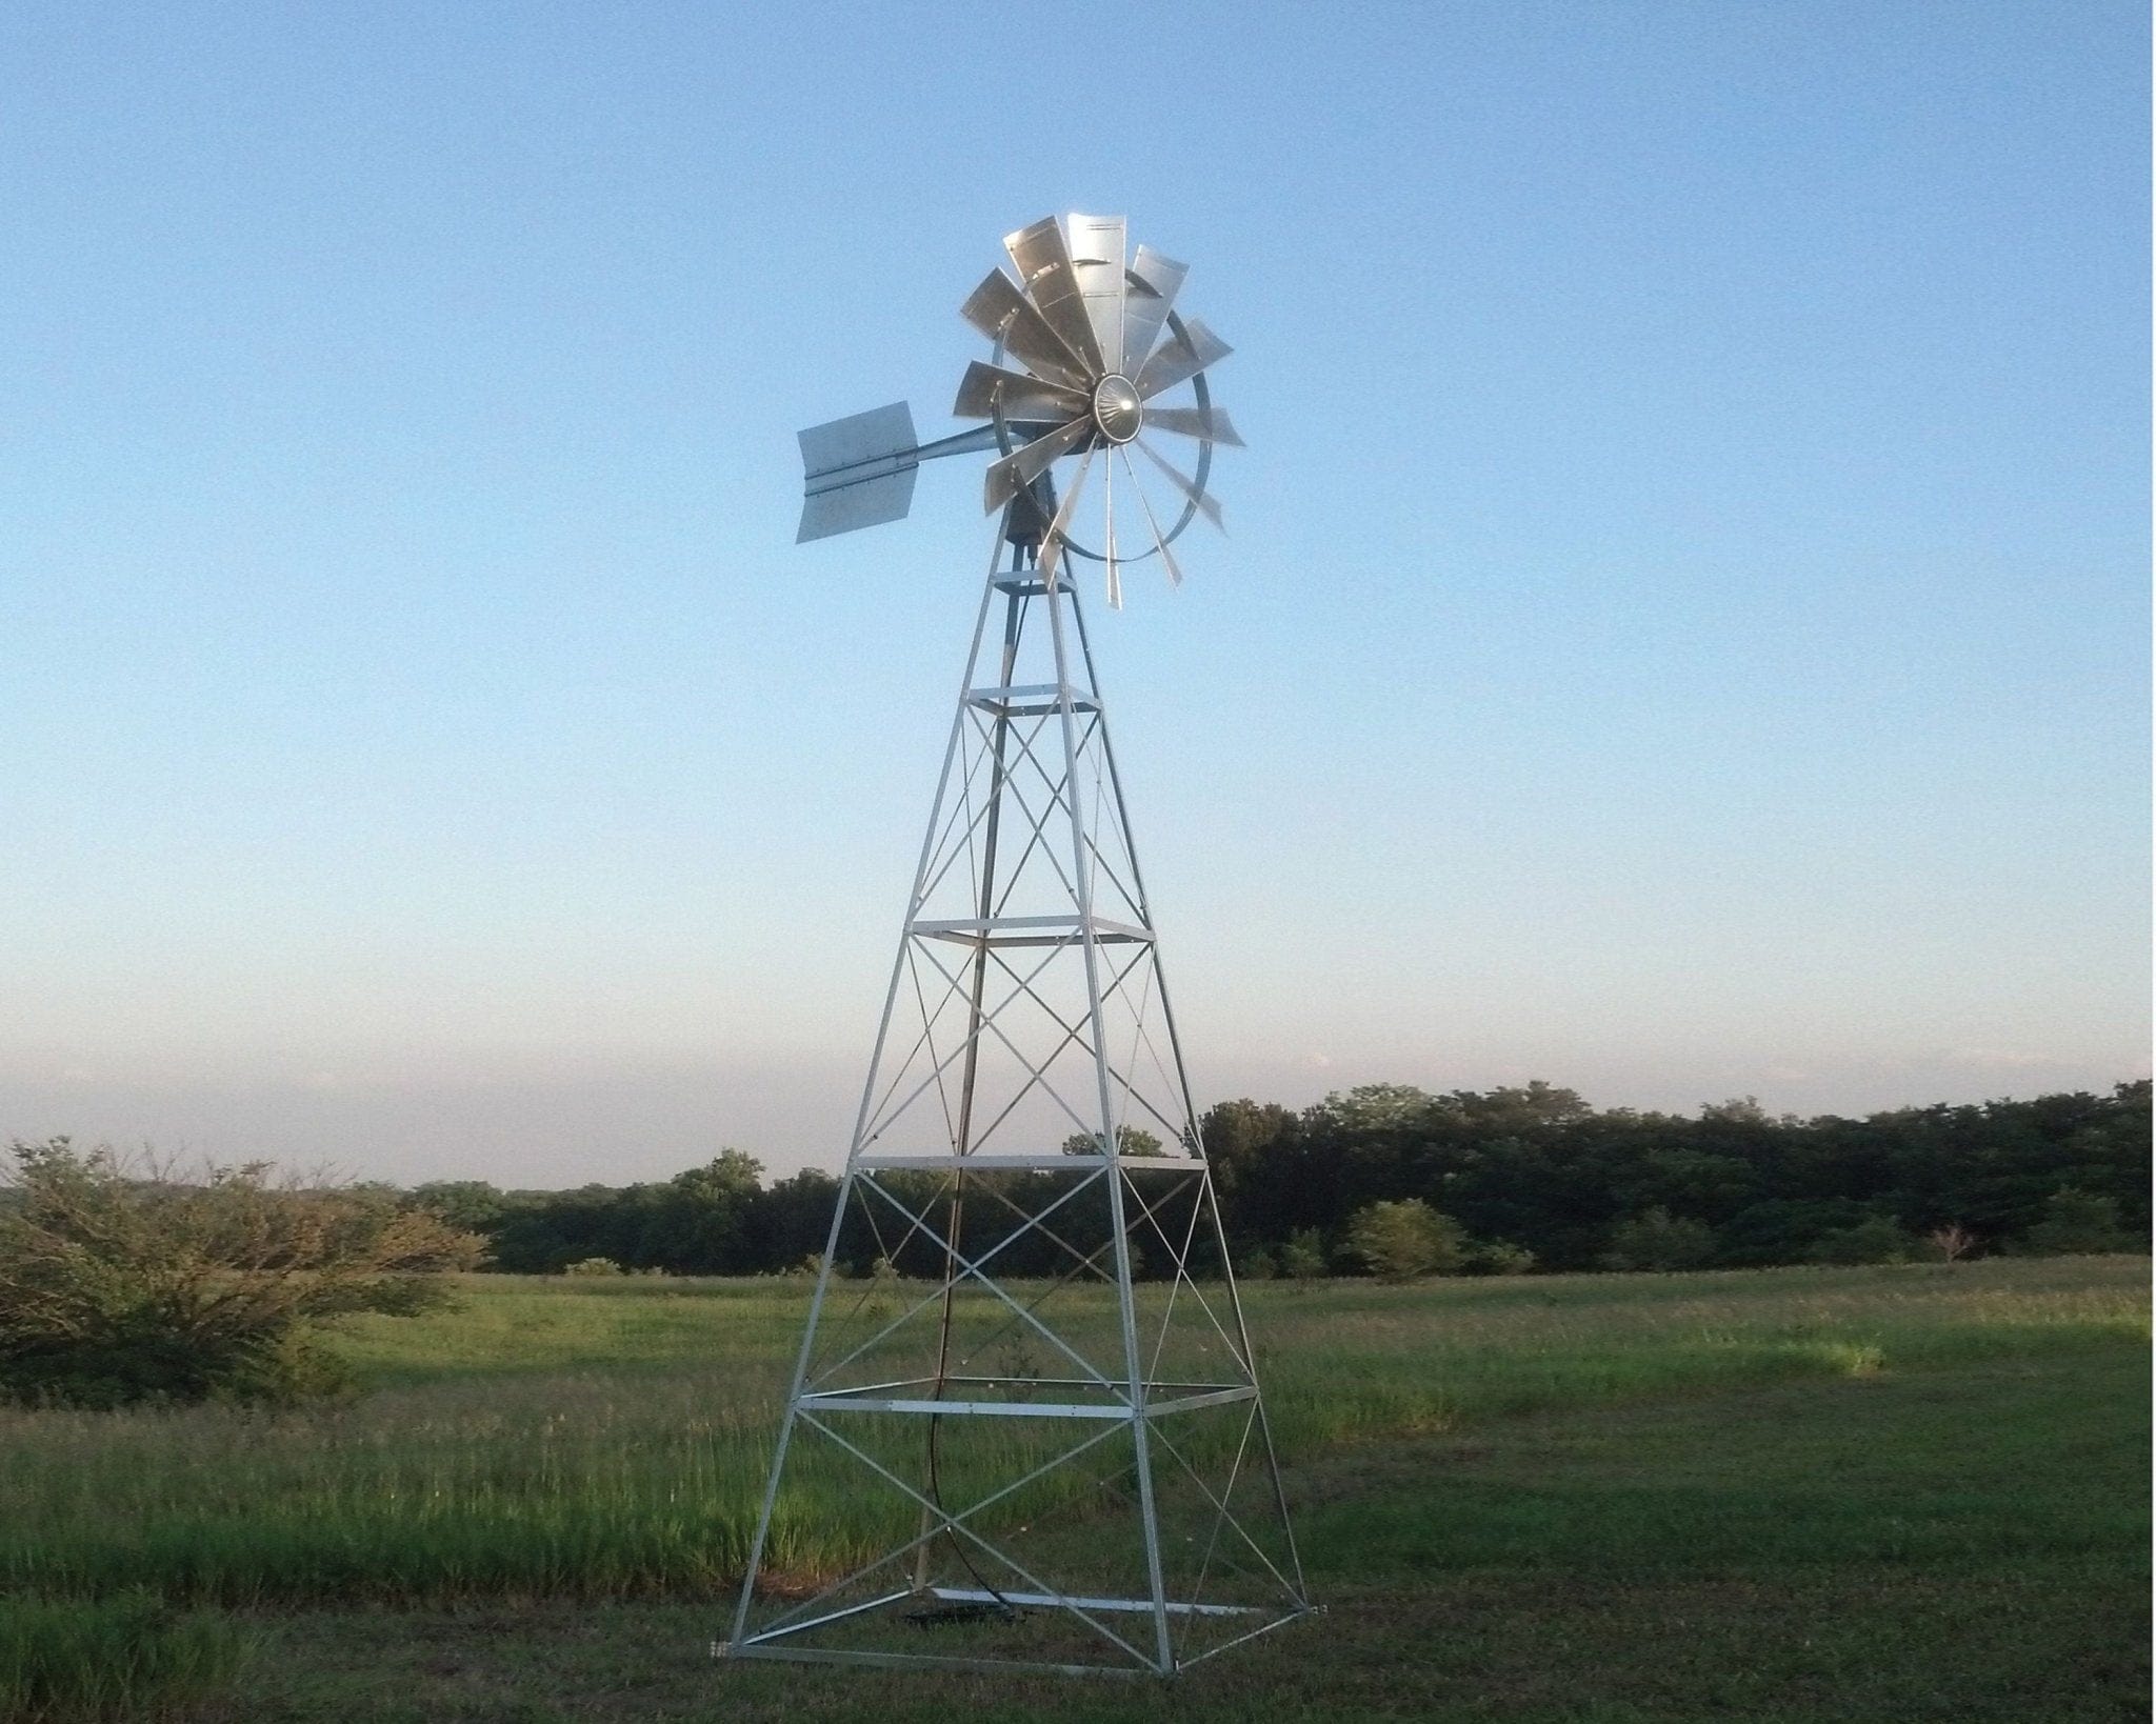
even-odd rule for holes
{"type": "MultiPolygon", "coordinates": [[[[1287,1455],[1537,1409],[2117,1345],[2145,1259],[1248,1291],[1287,1455]]],[[[800,1282],[472,1278],[343,1343],[313,1414],[0,1412],[0,1590],[172,1601],[718,1588],[740,1573],[800,1282]]],[[[998,1420],[998,1424],[1020,1424],[998,1420]]],[[[1011,1455],[1024,1448],[1009,1433],[1011,1455]]],[[[910,1528],[808,1461],[774,1565],[910,1528]]],[[[1009,1459],[1009,1457],[1005,1457],[1009,1459]]]]}

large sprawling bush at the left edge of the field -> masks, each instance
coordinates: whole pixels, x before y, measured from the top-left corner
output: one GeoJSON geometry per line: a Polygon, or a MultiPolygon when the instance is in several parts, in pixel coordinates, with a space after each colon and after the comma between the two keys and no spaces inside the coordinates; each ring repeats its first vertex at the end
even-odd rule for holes
{"type": "Polygon", "coordinates": [[[13,1144],[0,1209],[0,1399],[302,1401],[343,1373],[326,1321],[410,1315],[483,1241],[371,1190],[300,1190],[267,1164],[181,1179],[67,1138],[13,1144]]]}

